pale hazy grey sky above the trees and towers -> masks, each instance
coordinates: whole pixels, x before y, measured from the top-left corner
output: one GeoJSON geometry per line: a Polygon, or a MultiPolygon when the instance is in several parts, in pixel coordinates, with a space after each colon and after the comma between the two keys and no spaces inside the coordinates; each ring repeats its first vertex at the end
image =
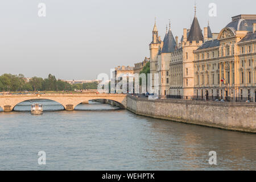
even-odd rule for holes
{"type": "MultiPolygon", "coordinates": [[[[164,0],[2,0],[0,2],[0,75],[95,79],[117,65],[149,57],[148,44],[156,16],[159,35],[168,19],[181,37],[193,19],[195,1],[164,0]],[[46,17],[38,4],[46,4],[46,17]]],[[[197,0],[201,28],[208,19],[220,32],[238,14],[256,14],[255,0],[197,0]],[[217,16],[209,17],[209,3],[217,16]]]]}

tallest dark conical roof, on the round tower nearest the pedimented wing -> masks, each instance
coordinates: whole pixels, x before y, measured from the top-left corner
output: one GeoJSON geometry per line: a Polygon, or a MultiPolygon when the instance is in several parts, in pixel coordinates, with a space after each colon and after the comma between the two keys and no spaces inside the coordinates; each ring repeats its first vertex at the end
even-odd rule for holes
{"type": "Polygon", "coordinates": [[[192,42],[193,40],[196,40],[196,42],[199,42],[200,40],[204,40],[204,36],[202,33],[202,30],[200,28],[199,22],[195,16],[193,19],[192,26],[190,28],[189,34],[188,34],[188,39],[189,42],[192,42]]]}

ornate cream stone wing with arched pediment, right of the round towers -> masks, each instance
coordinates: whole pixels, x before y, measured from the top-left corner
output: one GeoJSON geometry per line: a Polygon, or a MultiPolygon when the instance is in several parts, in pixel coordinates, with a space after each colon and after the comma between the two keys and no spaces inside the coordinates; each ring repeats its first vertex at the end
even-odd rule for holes
{"type": "Polygon", "coordinates": [[[194,51],[194,96],[255,101],[256,15],[238,15],[194,51]]]}

